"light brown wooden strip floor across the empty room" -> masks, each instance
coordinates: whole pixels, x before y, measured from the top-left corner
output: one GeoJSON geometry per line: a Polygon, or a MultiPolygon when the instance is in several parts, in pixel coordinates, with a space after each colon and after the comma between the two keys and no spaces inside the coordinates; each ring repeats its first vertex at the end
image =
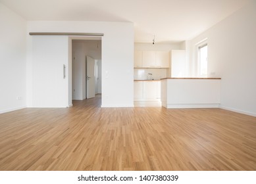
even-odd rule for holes
{"type": "Polygon", "coordinates": [[[100,101],[0,114],[0,170],[256,170],[255,117],[100,101]]]}

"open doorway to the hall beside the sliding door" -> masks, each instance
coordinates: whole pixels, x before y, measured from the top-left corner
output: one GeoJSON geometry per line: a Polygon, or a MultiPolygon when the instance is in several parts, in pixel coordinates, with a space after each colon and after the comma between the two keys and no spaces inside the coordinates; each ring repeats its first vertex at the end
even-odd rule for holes
{"type": "Polygon", "coordinates": [[[72,101],[101,99],[101,37],[72,39],[72,101]]]}

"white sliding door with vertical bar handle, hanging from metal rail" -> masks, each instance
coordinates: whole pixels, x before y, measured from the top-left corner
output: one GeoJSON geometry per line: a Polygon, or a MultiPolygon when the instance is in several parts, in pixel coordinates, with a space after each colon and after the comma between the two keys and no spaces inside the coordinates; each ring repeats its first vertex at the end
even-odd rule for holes
{"type": "Polygon", "coordinates": [[[34,107],[68,106],[67,36],[33,36],[32,104],[34,107]]]}

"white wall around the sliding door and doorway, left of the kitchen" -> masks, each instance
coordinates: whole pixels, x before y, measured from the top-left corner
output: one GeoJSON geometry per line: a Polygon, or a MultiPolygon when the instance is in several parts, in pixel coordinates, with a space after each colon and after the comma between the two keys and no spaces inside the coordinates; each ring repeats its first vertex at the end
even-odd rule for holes
{"type": "MultiPolygon", "coordinates": [[[[28,22],[28,32],[85,32],[103,33],[102,37],[102,105],[133,106],[133,67],[134,67],[134,26],[130,22],[28,22]]],[[[28,35],[31,44],[32,36],[28,35]]],[[[70,52],[70,51],[69,51],[70,52]]],[[[28,46],[28,91],[32,90],[33,70],[32,47],[28,46]]],[[[70,72],[72,64],[68,62],[70,72]]],[[[71,76],[71,73],[70,73],[71,76]]],[[[72,93],[68,83],[68,102],[72,93]]],[[[71,87],[70,87],[71,86],[71,87]]],[[[30,92],[28,92],[30,94],[30,92]]],[[[28,103],[32,101],[31,97],[28,103]]]]}

